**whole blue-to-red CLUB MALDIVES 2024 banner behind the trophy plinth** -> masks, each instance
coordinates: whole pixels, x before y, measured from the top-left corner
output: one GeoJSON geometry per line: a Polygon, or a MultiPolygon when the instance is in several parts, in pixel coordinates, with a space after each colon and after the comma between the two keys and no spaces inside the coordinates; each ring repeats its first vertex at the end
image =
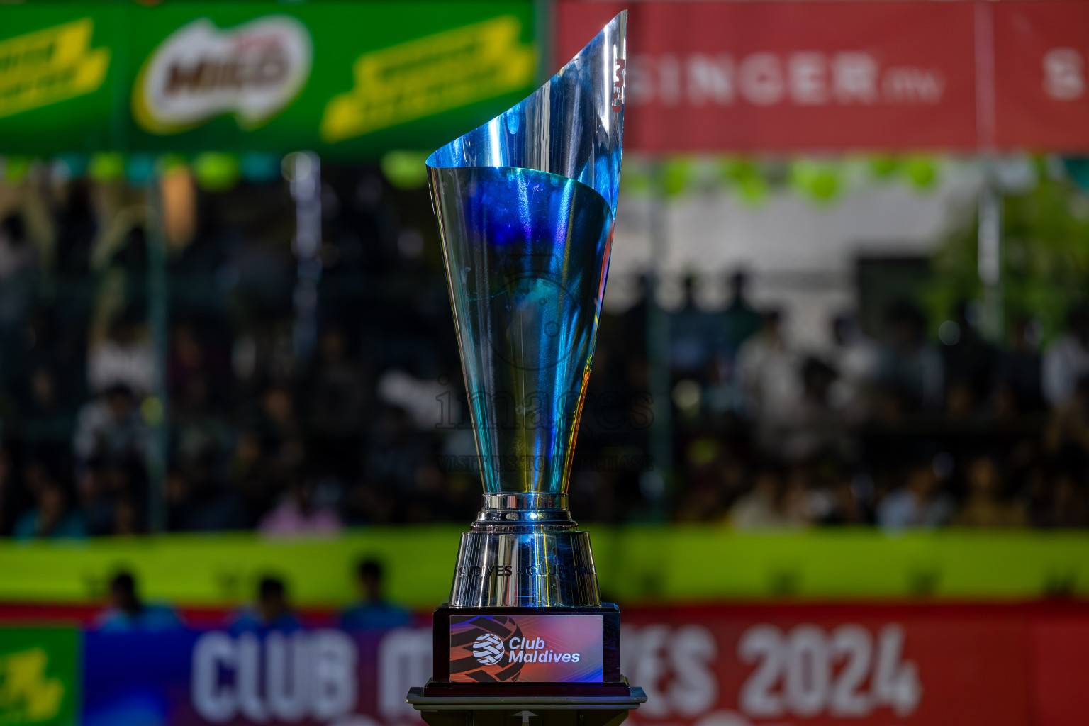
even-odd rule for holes
{"type": "MultiPolygon", "coordinates": [[[[423,622],[235,631],[184,615],[188,628],[83,633],[83,726],[420,724],[405,693],[430,675],[423,622]]],[[[9,617],[25,623],[0,607],[9,617]]],[[[633,726],[1080,726],[1089,713],[1086,603],[625,607],[622,623],[622,672],[648,697],[633,726]]],[[[33,635],[0,628],[0,655],[33,635]]],[[[559,643],[524,637],[476,650],[559,643]]],[[[50,642],[35,647],[61,663],[50,642]]]]}

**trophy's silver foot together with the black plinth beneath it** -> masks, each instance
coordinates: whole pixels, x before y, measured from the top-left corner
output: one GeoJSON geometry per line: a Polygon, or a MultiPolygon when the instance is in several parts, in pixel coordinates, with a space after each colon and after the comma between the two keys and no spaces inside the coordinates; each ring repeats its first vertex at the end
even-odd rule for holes
{"type": "Polygon", "coordinates": [[[435,611],[432,678],[408,693],[431,726],[615,726],[646,700],[621,675],[620,608],[600,601],[566,499],[485,495],[435,611]]]}

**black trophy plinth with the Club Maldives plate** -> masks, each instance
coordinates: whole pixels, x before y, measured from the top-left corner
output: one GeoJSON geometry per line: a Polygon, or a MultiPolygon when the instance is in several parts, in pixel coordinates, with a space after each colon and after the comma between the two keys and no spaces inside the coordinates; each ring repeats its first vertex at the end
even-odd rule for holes
{"type": "Polygon", "coordinates": [[[424,694],[627,697],[620,608],[443,605],[435,611],[432,678],[424,694]]]}

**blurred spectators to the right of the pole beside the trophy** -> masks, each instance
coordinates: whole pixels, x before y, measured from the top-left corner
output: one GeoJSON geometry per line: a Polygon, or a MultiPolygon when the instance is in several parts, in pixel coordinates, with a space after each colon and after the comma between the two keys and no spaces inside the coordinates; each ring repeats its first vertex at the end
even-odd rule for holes
{"type": "Polygon", "coordinates": [[[920,309],[900,302],[880,335],[842,315],[829,321],[831,345],[804,350],[778,310],[746,303],[744,276],[733,287],[725,313],[689,304],[678,317],[690,321],[673,329],[677,519],[1089,525],[1089,309],[1072,306],[1048,345],[1030,319],[1010,321],[995,344],[970,304],[933,335],[920,309]],[[737,321],[748,325],[741,335],[685,361],[696,337],[737,321]]]}

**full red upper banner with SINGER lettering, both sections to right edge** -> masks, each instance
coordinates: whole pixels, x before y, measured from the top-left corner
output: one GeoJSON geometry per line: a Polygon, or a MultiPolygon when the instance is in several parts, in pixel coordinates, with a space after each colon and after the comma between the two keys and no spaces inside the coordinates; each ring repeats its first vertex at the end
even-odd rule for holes
{"type": "Polygon", "coordinates": [[[633,150],[1089,149],[1084,0],[559,0],[556,60],[624,8],[633,150]]]}

